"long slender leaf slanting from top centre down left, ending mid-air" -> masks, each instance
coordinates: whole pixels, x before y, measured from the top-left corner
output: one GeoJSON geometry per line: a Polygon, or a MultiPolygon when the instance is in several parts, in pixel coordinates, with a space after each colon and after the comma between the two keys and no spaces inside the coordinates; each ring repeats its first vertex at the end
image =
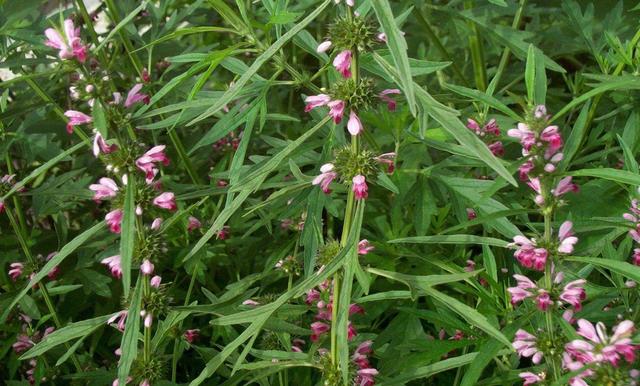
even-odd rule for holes
{"type": "Polygon", "coordinates": [[[254,62],[251,64],[247,72],[245,72],[240,79],[238,79],[233,87],[229,88],[226,93],[220,99],[216,100],[213,106],[209,107],[204,113],[197,116],[194,120],[189,122],[189,125],[193,125],[207,117],[217,113],[224,105],[231,102],[233,98],[238,95],[242,88],[249,82],[249,80],[258,72],[260,67],[269,60],[275,53],[277,53],[289,40],[291,40],[296,34],[302,31],[309,23],[311,23],[322,11],[329,5],[331,0],[325,0],[322,4],[317,6],[309,16],[305,17],[300,23],[296,24],[282,37],[276,40],[269,48],[267,48],[254,62]]]}

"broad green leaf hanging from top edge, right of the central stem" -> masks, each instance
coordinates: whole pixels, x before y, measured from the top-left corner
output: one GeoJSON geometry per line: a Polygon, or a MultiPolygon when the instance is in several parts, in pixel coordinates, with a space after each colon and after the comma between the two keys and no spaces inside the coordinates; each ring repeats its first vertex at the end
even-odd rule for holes
{"type": "Polygon", "coordinates": [[[402,35],[402,32],[398,28],[396,21],[391,11],[391,5],[387,0],[372,1],[373,9],[376,12],[376,16],[382,30],[387,35],[387,45],[391,52],[391,57],[398,69],[398,78],[400,80],[400,88],[404,92],[409,104],[411,113],[417,115],[417,104],[415,92],[413,89],[413,80],[411,79],[411,67],[409,66],[409,56],[407,55],[407,42],[402,35]]]}

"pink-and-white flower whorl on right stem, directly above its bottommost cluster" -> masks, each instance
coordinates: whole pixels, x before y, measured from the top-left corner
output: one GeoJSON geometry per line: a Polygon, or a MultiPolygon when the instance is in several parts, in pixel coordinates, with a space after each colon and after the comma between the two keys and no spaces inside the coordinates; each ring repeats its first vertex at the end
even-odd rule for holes
{"type": "MultiPolygon", "coordinates": [[[[563,305],[571,306],[577,312],[582,309],[582,302],[587,297],[584,290],[584,285],[587,281],[578,279],[562,286],[564,280],[562,272],[558,272],[555,275],[551,288],[539,288],[536,283],[524,275],[516,274],[513,277],[518,284],[516,287],[509,287],[507,291],[511,294],[511,304],[514,306],[525,299],[531,298],[535,300],[536,306],[540,311],[547,311],[549,307],[557,304],[559,307],[563,305]]],[[[567,315],[573,315],[573,312],[567,315]]]]}

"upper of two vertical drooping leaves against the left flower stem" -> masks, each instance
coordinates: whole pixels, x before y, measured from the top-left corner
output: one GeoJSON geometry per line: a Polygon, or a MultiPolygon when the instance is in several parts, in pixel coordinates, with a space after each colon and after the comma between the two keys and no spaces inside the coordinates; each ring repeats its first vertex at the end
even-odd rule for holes
{"type": "Polygon", "coordinates": [[[136,237],[135,214],[135,179],[129,178],[122,210],[122,232],[120,233],[120,264],[122,266],[122,285],[124,297],[129,296],[131,287],[131,260],[133,259],[133,247],[136,237]]]}

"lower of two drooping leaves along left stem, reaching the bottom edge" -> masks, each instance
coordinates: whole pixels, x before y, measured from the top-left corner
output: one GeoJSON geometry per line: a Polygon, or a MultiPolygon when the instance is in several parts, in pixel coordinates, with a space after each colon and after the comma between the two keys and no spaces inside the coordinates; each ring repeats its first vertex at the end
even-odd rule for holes
{"type": "Polygon", "coordinates": [[[124,325],[124,333],[120,342],[122,355],[118,361],[118,380],[121,385],[126,384],[126,379],[131,371],[131,365],[138,356],[138,335],[140,334],[140,307],[142,303],[142,281],[138,282],[131,295],[127,321],[124,325]]]}

